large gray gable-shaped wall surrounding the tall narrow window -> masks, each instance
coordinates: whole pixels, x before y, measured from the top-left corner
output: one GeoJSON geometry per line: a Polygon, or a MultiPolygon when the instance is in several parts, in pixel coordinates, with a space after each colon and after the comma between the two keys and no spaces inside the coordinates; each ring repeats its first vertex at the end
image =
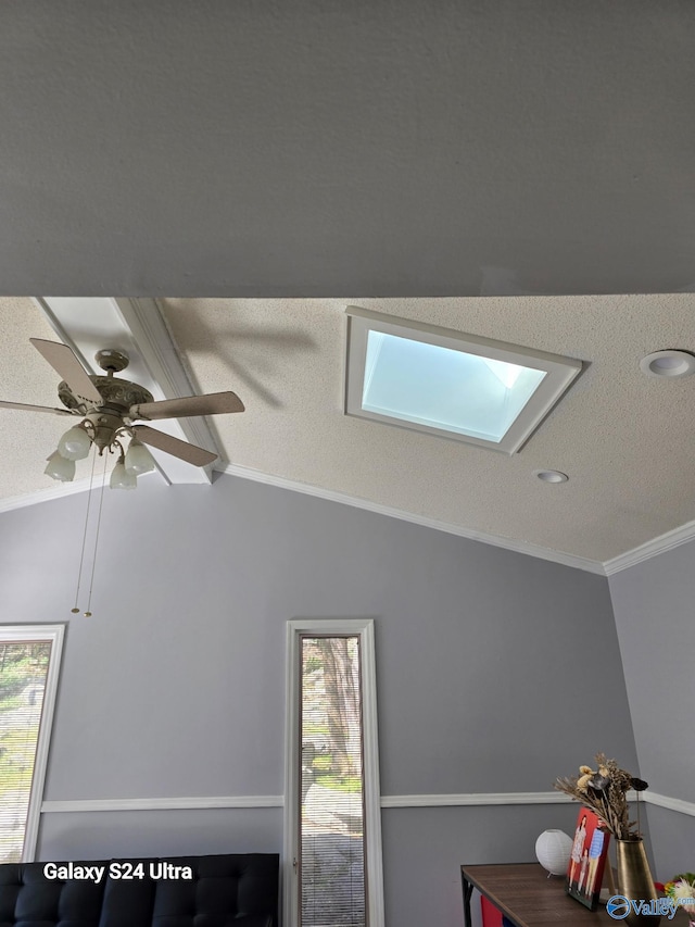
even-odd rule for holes
{"type": "MultiPolygon", "coordinates": [[[[7,621],[70,624],[47,799],[281,794],[294,617],[375,618],[383,796],[546,791],[601,749],[635,767],[606,579],[233,477],[142,484],[106,493],[91,619],[86,497],[0,516],[7,621]]],[[[384,809],[388,924],[459,923],[459,863],[533,860],[576,812],[384,809]]],[[[39,854],[279,850],[281,814],[46,814],[39,854]]]]}

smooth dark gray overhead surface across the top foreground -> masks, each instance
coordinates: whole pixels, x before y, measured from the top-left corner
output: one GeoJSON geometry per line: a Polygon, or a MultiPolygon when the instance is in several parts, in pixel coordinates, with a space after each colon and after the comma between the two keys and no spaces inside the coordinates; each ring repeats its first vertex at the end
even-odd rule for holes
{"type": "Polygon", "coordinates": [[[0,290],[695,286],[687,0],[0,4],[0,290]]]}

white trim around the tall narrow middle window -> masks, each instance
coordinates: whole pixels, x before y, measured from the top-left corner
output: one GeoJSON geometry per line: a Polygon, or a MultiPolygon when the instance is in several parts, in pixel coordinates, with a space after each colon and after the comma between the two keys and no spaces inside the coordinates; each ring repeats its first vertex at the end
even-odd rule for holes
{"type": "Polygon", "coordinates": [[[287,691],[285,743],[285,852],[282,924],[296,927],[299,879],[294,860],[299,853],[300,727],[299,652],[302,635],[356,635],[359,637],[362,674],[362,735],[364,750],[365,835],[367,847],[367,924],[383,927],[383,867],[381,861],[381,798],[379,791],[379,740],[377,729],[377,673],[371,618],[312,618],[287,624],[287,691]]]}

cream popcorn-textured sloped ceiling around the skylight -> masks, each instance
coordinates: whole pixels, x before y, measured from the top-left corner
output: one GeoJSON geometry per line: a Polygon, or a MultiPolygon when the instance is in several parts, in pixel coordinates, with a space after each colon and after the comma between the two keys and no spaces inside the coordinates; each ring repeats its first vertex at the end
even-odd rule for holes
{"type": "MultiPolygon", "coordinates": [[[[472,536],[605,562],[695,519],[695,377],[646,377],[665,348],[695,351],[695,296],[355,299],[365,309],[581,360],[585,372],[522,450],[496,453],[342,413],[343,300],[160,300],[199,392],[235,390],[208,419],[229,463],[472,536]],[[543,484],[536,469],[567,473],[543,484]]],[[[0,299],[2,398],[56,405],[29,345],[55,338],[30,300],[0,299]]],[[[3,410],[1,497],[42,475],[66,419],[3,410]]],[[[86,462],[83,464],[86,476],[86,462]]]]}

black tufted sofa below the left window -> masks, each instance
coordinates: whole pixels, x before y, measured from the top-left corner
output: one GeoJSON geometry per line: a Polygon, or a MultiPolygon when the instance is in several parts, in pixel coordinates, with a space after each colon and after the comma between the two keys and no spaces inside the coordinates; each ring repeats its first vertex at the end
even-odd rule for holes
{"type": "Polygon", "coordinates": [[[0,927],[277,927],[278,887],[277,853],[3,863],[0,927]]]}

